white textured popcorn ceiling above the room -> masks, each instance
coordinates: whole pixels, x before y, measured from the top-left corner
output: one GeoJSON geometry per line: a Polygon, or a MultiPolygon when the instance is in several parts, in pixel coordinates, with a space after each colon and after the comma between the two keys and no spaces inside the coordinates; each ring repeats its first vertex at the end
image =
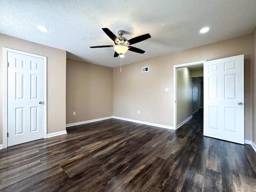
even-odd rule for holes
{"type": "Polygon", "coordinates": [[[122,64],[249,34],[256,26],[256,0],[0,0],[0,33],[67,51],[67,57],[116,67],[112,45],[101,28],[130,39],[144,54],[128,51],[122,64]],[[40,32],[38,25],[49,29],[40,32]],[[200,34],[200,29],[210,31],[200,34]]]}

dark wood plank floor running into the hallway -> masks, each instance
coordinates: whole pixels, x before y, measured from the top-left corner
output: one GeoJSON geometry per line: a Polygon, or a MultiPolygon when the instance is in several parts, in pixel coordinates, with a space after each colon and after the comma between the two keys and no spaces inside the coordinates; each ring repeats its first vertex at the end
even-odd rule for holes
{"type": "Polygon", "coordinates": [[[176,131],[116,119],[67,131],[0,150],[0,191],[256,191],[256,153],[204,137],[202,110],[176,131]]]}

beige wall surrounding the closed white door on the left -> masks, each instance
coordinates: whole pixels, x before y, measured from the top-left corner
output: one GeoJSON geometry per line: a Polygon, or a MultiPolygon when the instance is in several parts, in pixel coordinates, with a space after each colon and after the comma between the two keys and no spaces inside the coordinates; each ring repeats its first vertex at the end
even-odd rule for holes
{"type": "MultiPolygon", "coordinates": [[[[47,134],[66,130],[66,51],[0,34],[0,76],[3,47],[47,57],[47,134]]],[[[3,125],[3,78],[0,78],[0,144],[3,125]]]]}

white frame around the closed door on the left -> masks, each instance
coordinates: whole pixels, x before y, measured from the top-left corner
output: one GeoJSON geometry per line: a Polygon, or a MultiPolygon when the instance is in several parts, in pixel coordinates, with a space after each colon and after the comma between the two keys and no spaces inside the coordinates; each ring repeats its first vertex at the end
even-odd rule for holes
{"type": "Polygon", "coordinates": [[[10,48],[3,48],[3,64],[4,64],[4,92],[3,92],[3,148],[7,148],[7,83],[8,83],[8,76],[7,76],[7,66],[8,66],[8,60],[7,60],[7,53],[14,52],[18,54],[23,54],[27,56],[32,57],[38,57],[42,58],[44,60],[44,106],[43,106],[43,114],[44,114],[44,120],[43,120],[43,130],[44,130],[44,138],[47,138],[47,94],[46,94],[46,57],[40,56],[36,54],[31,54],[27,52],[22,52],[10,48]]]}

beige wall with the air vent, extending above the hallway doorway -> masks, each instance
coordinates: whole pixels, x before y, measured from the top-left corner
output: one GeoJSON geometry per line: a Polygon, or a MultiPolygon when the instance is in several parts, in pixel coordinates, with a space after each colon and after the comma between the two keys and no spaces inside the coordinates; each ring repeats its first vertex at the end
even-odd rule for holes
{"type": "Polygon", "coordinates": [[[245,139],[251,140],[252,34],[125,65],[122,72],[114,68],[113,115],[173,126],[173,66],[240,54],[245,58],[245,139]],[[145,66],[149,72],[142,73],[145,66]]]}

